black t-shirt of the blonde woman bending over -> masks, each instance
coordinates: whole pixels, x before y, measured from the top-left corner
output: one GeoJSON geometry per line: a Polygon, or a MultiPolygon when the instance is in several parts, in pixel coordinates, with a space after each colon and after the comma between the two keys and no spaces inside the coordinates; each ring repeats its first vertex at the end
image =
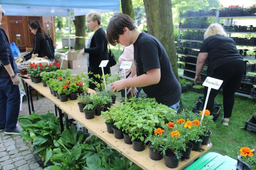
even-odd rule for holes
{"type": "Polygon", "coordinates": [[[208,52],[207,76],[212,76],[214,69],[232,62],[244,61],[230,37],[213,35],[203,41],[200,52],[208,52]]]}

